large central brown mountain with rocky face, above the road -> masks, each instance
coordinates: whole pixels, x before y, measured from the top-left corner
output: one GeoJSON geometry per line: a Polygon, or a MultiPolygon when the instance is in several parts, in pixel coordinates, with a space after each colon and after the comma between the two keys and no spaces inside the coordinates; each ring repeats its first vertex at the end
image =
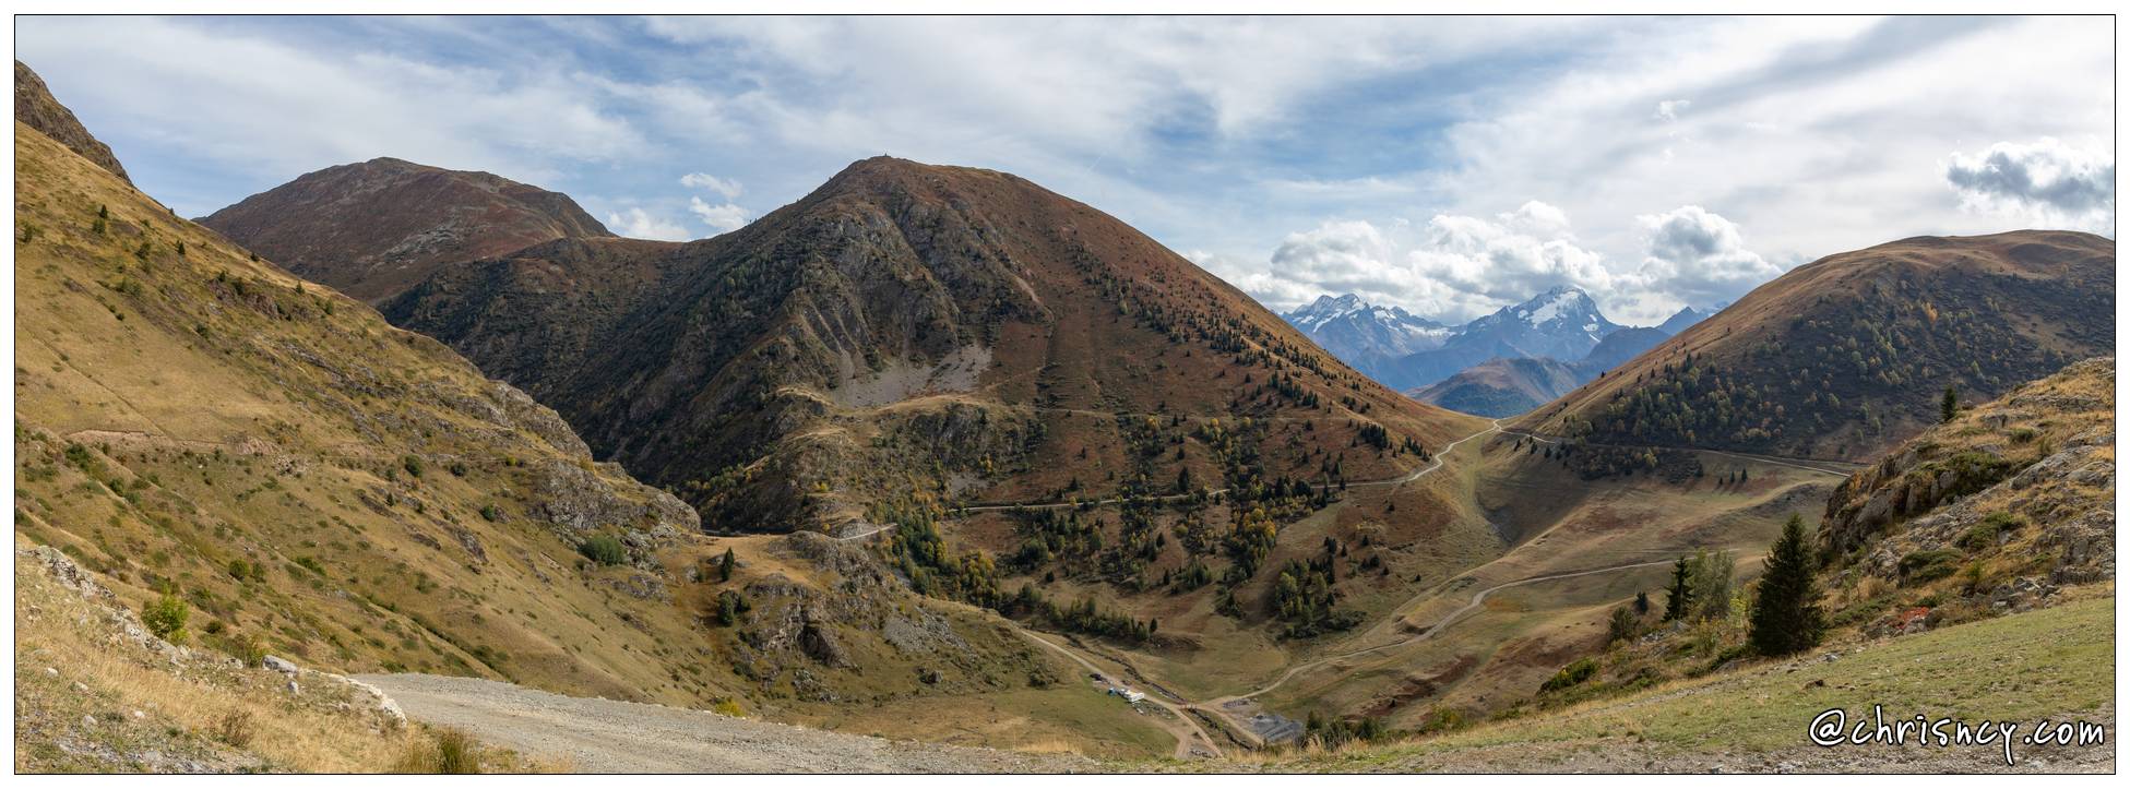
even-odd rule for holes
{"type": "Polygon", "coordinates": [[[554,404],[714,527],[878,521],[914,493],[1167,489],[1184,468],[1212,485],[1227,464],[1184,434],[1244,417],[1259,427],[1231,481],[1327,479],[1333,455],[1348,479],[1391,476],[1465,425],[1108,215],[888,157],[733,234],[562,238],[443,270],[383,310],[554,404]],[[1133,447],[1144,419],[1180,457],[1133,447]]]}

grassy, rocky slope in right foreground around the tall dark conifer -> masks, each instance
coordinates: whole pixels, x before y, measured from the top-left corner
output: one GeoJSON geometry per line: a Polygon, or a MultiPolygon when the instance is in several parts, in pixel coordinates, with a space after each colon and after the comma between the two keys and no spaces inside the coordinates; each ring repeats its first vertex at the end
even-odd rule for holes
{"type": "MultiPolygon", "coordinates": [[[[1887,704],[1906,715],[1955,715],[2032,725],[2066,717],[2113,723],[2115,587],[2115,364],[2087,359],[1966,408],[1840,485],[1821,487],[1819,604],[1828,644],[1791,659],[1753,657],[1742,644],[1757,574],[1751,540],[1738,551],[1736,581],[1719,604],[1685,621],[1657,621],[1664,570],[1640,587],[1580,583],[1580,606],[1527,608],[1551,593],[1519,591],[1502,604],[1525,608],[1529,636],[1508,640],[1491,661],[1448,655],[1412,659],[1419,695],[1404,721],[1433,736],[1404,744],[1357,744],[1340,753],[1265,757],[1272,770],[2004,770],[1994,746],[1932,749],[1930,755],[1853,749],[1836,753],[1804,738],[1828,708],[1868,715],[1887,704]],[[1634,591],[1655,608],[1636,617],[1632,638],[1608,642],[1615,610],[1634,610],[1634,591]],[[1566,612],[1566,615],[1559,615],[1566,612]],[[1551,634],[1534,619],[1557,619],[1551,634]],[[1542,649],[1534,649],[1542,647],[1542,649]],[[1512,683],[1482,683],[1495,698],[1491,721],[1472,725],[1468,685],[1504,661],[1531,661],[1512,683]],[[1440,672],[1448,666],[1448,672],[1440,672]],[[1578,670],[1576,670],[1578,668],[1578,670]],[[1572,672],[1574,670],[1574,672],[1572,672]],[[1425,706],[1423,706],[1425,704],[1425,706]],[[1506,706],[1506,708],[1504,708],[1506,706]],[[1725,715],[1695,715],[1700,708],[1725,715]],[[1414,725],[1416,723],[1416,725],[1414,725]]],[[[1768,487],[1759,468],[1749,483],[1768,487]]],[[[1791,470],[1796,472],[1796,470],[1791,470]]],[[[1649,491],[1666,496],[1664,491],[1649,491]]],[[[1642,493],[1638,498],[1651,498],[1642,493]]],[[[1664,508],[1681,508],[1674,500],[1664,508]]],[[[1787,502],[1791,508],[1796,502],[1787,502]]],[[[1781,508],[1768,508],[1781,510],[1781,508]]],[[[1504,513],[1510,515],[1510,513],[1504,513]]],[[[1593,513],[1595,515],[1595,513],[1593,513]]],[[[1585,515],[1587,519],[1587,515],[1585,515]]],[[[1576,519],[1566,519],[1570,523],[1576,519]]],[[[1578,555],[1602,553],[1604,532],[1557,534],[1578,555]]],[[[1713,527],[1672,547],[1738,549],[1738,534],[1713,527]]],[[[1653,547],[1655,534],[1636,544],[1653,547]]],[[[1529,542],[1534,549],[1538,540],[1529,542]]],[[[1619,544],[1615,538],[1612,544],[1619,544]]],[[[1674,549],[1676,551],[1676,549],[1674,549]]],[[[1617,578],[1627,581],[1627,578],[1617,578]]],[[[1493,608],[1489,598],[1489,608],[1493,608]]],[[[1472,629],[1489,623],[1474,617],[1472,629]]],[[[1459,651],[1482,644],[1463,638],[1459,651]]],[[[1455,655],[1455,653],[1453,653],[1455,655]]],[[[1391,661],[1393,655],[1382,655],[1391,661]]],[[[1338,689],[1318,691],[1338,698],[1338,689]]],[[[1333,715],[1338,710],[1333,708],[1333,715]]],[[[1391,719],[1399,723],[1399,719],[1391,719]]],[[[2019,744],[2028,770],[2104,768],[2111,753],[2019,744]]]]}

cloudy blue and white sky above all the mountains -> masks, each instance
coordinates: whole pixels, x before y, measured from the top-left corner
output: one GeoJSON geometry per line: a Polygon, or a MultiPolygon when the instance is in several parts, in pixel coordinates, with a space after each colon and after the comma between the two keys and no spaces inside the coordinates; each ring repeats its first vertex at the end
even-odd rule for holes
{"type": "Polygon", "coordinates": [[[392,155],[705,238],[854,160],[1007,170],[1276,310],[1621,323],[1921,234],[2115,236],[2113,19],[15,17],[183,215],[392,155]]]}

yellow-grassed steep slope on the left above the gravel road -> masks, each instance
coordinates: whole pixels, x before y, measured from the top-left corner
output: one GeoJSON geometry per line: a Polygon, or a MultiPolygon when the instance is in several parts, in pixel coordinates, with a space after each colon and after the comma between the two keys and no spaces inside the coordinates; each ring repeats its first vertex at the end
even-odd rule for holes
{"type": "Polygon", "coordinates": [[[869,725],[1137,753],[1144,721],[1035,717],[1080,693],[997,617],[861,542],[705,538],[443,345],[15,130],[15,534],[119,604],[170,593],[194,644],[307,668],[784,721],[984,706],[1005,719],[869,725]]]}

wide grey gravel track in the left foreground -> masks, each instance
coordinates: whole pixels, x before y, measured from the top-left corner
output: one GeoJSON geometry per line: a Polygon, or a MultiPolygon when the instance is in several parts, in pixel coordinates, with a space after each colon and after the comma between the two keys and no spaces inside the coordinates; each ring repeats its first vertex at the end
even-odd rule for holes
{"type": "Polygon", "coordinates": [[[1093,772],[1074,755],[897,742],[682,710],[556,695],[509,683],[430,674],[362,674],[407,717],[458,727],[575,772],[1093,772]]]}

